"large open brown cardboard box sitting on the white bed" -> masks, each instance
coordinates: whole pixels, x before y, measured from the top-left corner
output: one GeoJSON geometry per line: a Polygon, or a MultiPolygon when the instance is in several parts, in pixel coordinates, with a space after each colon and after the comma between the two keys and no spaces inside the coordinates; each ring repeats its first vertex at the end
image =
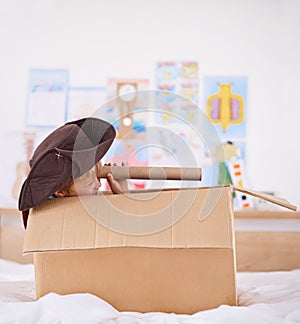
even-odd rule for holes
{"type": "Polygon", "coordinates": [[[24,241],[24,252],[34,257],[37,298],[88,292],[119,311],[184,314],[236,305],[232,190],[141,191],[40,204],[24,241]]]}

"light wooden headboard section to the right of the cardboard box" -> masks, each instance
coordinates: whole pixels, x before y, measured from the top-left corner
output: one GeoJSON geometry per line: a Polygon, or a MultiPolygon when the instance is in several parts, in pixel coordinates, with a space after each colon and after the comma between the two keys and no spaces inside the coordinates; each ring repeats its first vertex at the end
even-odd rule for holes
{"type": "Polygon", "coordinates": [[[237,271],[300,268],[300,212],[235,212],[235,228],[237,271]]]}

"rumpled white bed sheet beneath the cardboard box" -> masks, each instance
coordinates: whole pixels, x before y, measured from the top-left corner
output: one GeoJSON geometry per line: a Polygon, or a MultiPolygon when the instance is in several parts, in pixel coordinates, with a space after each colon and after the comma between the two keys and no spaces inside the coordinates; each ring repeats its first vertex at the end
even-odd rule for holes
{"type": "Polygon", "coordinates": [[[91,294],[35,300],[33,265],[0,259],[0,323],[300,323],[300,269],[238,273],[240,306],[193,315],[118,312],[91,294]]]}

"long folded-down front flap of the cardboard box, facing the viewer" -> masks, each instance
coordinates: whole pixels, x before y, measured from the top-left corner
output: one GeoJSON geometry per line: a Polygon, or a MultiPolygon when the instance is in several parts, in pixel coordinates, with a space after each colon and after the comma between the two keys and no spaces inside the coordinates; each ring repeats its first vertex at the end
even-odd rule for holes
{"type": "Polygon", "coordinates": [[[49,199],[31,210],[23,251],[233,248],[231,194],[218,187],[49,199]]]}

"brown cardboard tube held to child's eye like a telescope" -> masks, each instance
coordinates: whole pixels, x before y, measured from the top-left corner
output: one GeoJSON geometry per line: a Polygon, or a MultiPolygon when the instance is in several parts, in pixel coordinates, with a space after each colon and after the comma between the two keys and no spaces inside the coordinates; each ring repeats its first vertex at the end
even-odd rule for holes
{"type": "Polygon", "coordinates": [[[151,179],[151,180],[201,180],[201,168],[149,167],[103,165],[99,168],[98,178],[106,178],[112,173],[115,179],[151,179]]]}

